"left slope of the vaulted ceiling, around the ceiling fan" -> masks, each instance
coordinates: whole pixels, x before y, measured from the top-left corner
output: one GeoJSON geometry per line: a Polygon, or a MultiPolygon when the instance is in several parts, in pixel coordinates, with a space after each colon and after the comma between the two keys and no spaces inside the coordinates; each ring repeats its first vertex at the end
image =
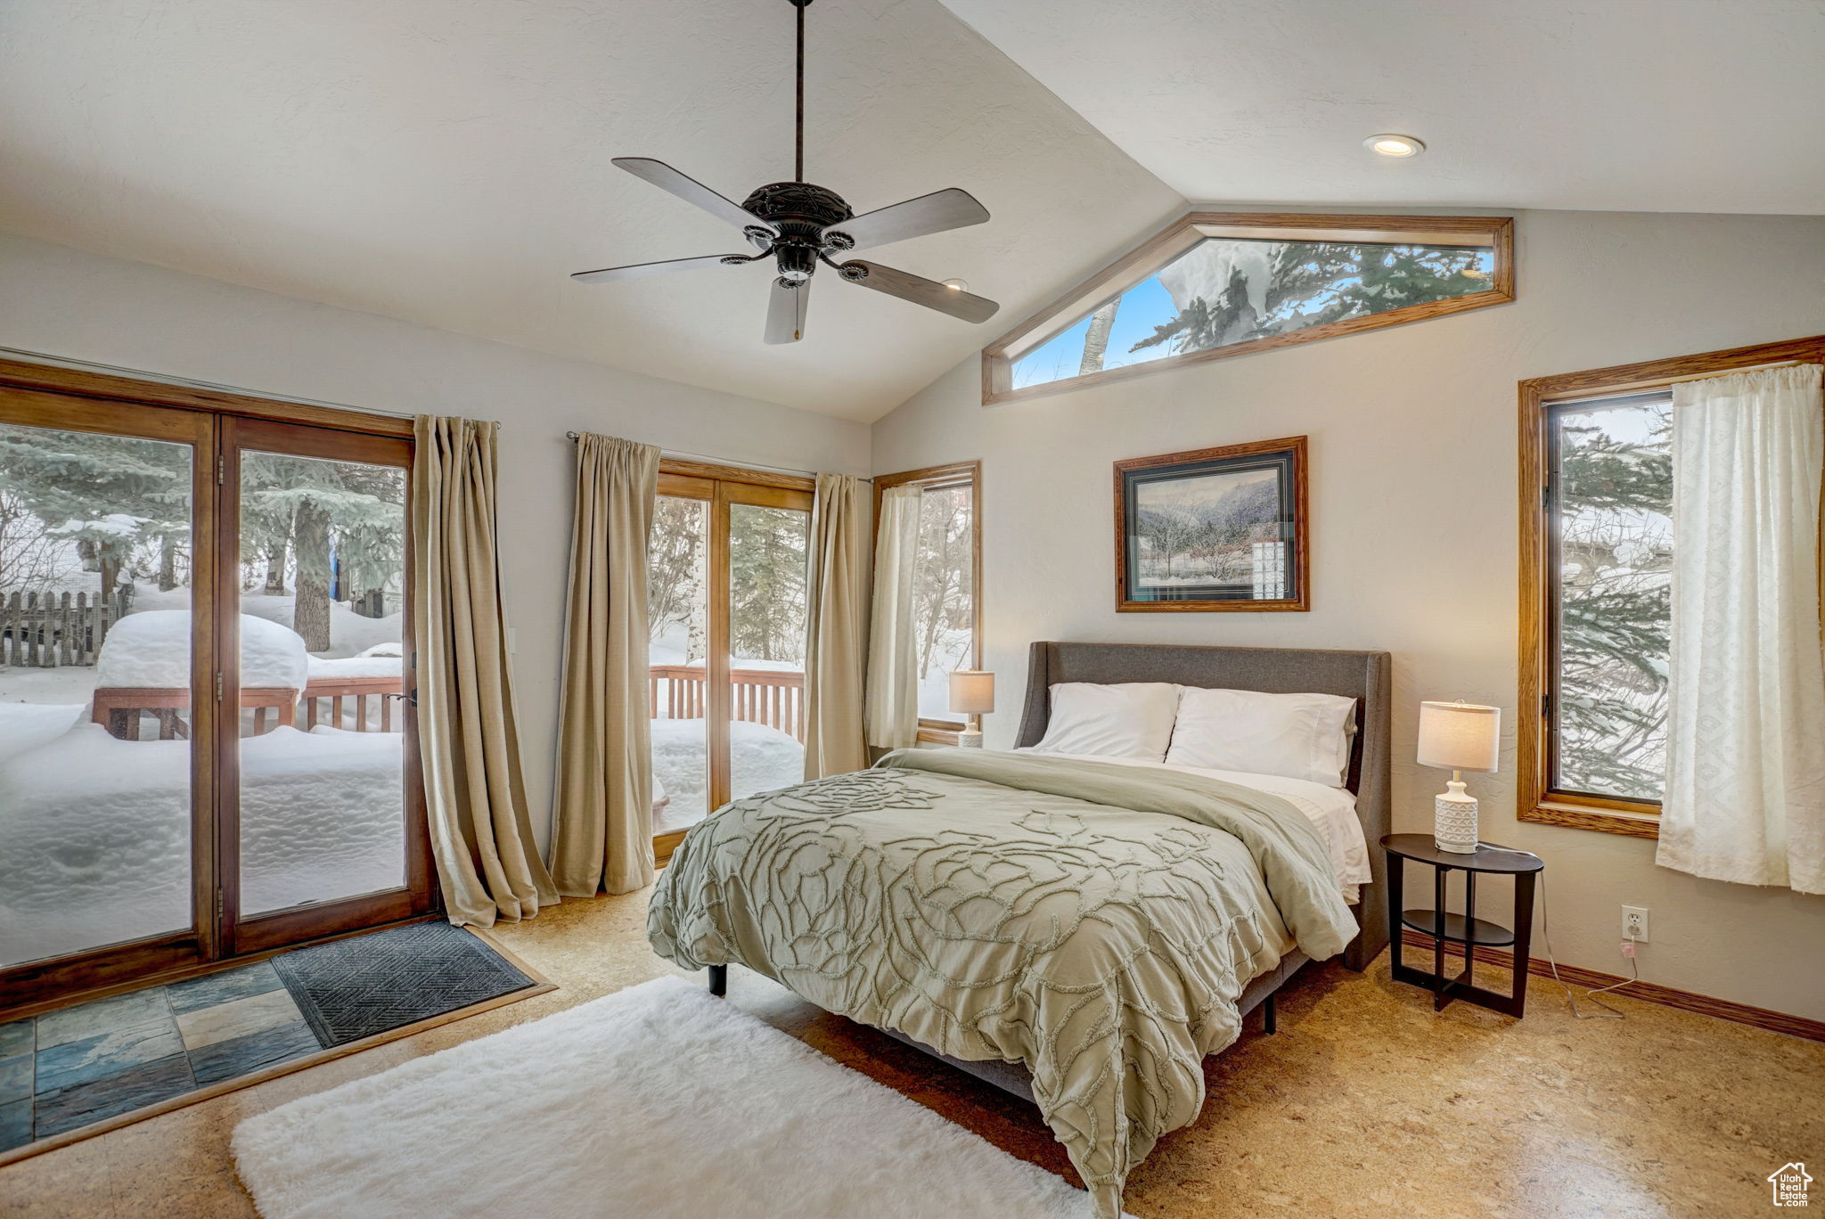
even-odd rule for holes
{"type": "Polygon", "coordinates": [[[1179,204],[936,0],[821,0],[807,38],[807,177],[975,193],[987,224],[869,257],[998,318],[821,274],[765,347],[765,263],[568,279],[750,252],[610,159],[790,179],[787,0],[5,0],[0,230],[872,420],[1179,204]]]}

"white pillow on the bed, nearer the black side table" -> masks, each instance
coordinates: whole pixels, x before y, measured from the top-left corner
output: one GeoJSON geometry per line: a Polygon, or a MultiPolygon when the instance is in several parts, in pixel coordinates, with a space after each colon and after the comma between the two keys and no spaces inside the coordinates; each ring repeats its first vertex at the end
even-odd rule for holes
{"type": "Polygon", "coordinates": [[[1343,787],[1356,699],[1184,686],[1168,766],[1241,770],[1343,787]]]}

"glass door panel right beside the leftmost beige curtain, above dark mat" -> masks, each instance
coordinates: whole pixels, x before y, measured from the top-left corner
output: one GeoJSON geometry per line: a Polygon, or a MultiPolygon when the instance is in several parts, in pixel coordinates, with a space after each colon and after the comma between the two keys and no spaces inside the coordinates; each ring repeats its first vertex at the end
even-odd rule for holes
{"type": "Polygon", "coordinates": [[[407,703],[409,467],[403,438],[223,420],[232,953],[431,909],[407,703]]]}

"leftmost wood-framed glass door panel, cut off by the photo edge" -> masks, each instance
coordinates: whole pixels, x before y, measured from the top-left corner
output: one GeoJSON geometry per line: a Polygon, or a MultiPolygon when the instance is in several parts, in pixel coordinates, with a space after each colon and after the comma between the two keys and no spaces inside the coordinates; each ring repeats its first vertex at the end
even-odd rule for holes
{"type": "Polygon", "coordinates": [[[212,425],[0,401],[0,1007],[212,949],[212,425]]]}

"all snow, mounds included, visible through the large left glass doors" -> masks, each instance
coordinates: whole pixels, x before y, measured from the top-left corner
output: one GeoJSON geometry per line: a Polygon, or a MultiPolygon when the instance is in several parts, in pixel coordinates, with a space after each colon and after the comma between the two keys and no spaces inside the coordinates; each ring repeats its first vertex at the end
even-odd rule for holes
{"type": "MultiPolygon", "coordinates": [[[[310,655],[290,597],[243,606],[246,686],[400,673],[398,615],[336,604],[332,646],[310,655]]],[[[155,739],[155,721],[139,741],[111,737],[89,723],[97,686],[190,686],[188,591],[139,586],[93,666],[0,666],[0,967],[190,925],[192,745],[155,739]]],[[[378,714],[370,699],[376,728],[378,714]]],[[[243,723],[243,912],[403,883],[402,735],[243,723]]]]}

